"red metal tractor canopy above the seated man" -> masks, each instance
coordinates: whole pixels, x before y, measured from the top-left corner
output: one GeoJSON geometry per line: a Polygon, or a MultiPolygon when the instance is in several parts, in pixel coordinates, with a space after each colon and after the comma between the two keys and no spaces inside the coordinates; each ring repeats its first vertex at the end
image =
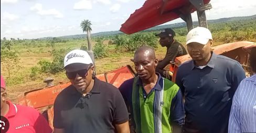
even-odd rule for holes
{"type": "MultiPolygon", "coordinates": [[[[210,0],[204,0],[204,4],[209,2],[210,0]]],[[[177,19],[180,17],[180,13],[188,14],[195,12],[195,10],[196,8],[189,3],[189,0],[147,0],[140,9],[131,14],[122,24],[120,30],[125,34],[133,34],[177,19]],[[163,7],[163,5],[165,6],[163,7]],[[163,13],[161,14],[162,10],[163,13]]]]}

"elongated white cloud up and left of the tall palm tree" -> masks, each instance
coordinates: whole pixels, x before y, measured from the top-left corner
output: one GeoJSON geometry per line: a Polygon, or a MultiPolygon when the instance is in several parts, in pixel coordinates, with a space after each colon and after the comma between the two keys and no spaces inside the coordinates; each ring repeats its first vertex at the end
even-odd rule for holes
{"type": "Polygon", "coordinates": [[[36,4],[31,7],[30,10],[36,11],[37,14],[41,16],[54,16],[56,18],[62,18],[63,14],[61,14],[57,9],[42,9],[42,4],[36,4]]]}

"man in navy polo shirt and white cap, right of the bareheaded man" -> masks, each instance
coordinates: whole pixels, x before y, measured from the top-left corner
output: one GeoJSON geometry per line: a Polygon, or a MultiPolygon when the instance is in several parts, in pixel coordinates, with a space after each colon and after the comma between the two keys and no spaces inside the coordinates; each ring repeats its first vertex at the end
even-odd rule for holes
{"type": "Polygon", "coordinates": [[[211,32],[196,27],[188,32],[192,60],[179,66],[176,84],[185,97],[186,133],[228,132],[232,98],[246,77],[239,62],[211,51],[211,32]]]}

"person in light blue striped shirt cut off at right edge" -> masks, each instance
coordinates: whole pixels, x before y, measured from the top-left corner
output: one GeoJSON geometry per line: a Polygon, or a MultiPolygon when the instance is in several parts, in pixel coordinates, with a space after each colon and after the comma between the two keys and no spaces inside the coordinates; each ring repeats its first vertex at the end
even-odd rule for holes
{"type": "Polygon", "coordinates": [[[229,116],[229,133],[256,132],[256,43],[248,51],[254,75],[242,80],[236,93],[229,116]]]}

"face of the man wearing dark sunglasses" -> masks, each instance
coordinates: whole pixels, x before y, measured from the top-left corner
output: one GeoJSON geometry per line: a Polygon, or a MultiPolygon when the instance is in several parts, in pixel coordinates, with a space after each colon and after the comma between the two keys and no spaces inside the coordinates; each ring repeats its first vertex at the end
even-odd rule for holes
{"type": "Polygon", "coordinates": [[[84,64],[70,64],[66,66],[66,75],[77,91],[82,93],[92,82],[94,66],[84,64]]]}

